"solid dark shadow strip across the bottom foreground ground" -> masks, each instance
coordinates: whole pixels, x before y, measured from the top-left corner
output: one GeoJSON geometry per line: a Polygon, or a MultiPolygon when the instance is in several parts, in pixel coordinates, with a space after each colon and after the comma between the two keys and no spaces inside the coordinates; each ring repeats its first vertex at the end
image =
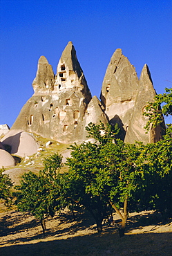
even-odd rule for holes
{"type": "Polygon", "coordinates": [[[0,248],[1,256],[62,255],[171,255],[172,233],[126,235],[103,232],[70,239],[39,241],[37,244],[0,248]]]}

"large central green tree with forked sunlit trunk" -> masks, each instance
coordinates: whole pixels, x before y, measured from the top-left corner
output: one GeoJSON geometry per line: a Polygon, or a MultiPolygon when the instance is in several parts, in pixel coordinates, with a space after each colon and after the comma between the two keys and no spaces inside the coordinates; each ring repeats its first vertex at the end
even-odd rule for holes
{"type": "Polygon", "coordinates": [[[71,196],[93,215],[98,232],[102,231],[102,221],[112,207],[122,219],[119,231],[123,236],[128,201],[136,189],[137,178],[140,179],[135,165],[139,147],[124,144],[120,139],[114,143],[116,127],[113,130],[110,125],[104,127],[90,123],[86,129],[95,138],[95,143],[71,146],[73,151],[67,162],[68,185],[73,191],[71,196]]]}

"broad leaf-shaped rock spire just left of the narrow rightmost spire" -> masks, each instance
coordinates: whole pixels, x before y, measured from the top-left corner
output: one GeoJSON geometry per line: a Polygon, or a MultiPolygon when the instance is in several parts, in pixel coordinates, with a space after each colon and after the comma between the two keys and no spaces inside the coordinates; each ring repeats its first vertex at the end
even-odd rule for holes
{"type": "Polygon", "coordinates": [[[112,125],[117,122],[121,128],[122,139],[131,120],[138,87],[135,68],[122,54],[122,50],[117,49],[108,64],[100,98],[109,122],[112,125]]]}

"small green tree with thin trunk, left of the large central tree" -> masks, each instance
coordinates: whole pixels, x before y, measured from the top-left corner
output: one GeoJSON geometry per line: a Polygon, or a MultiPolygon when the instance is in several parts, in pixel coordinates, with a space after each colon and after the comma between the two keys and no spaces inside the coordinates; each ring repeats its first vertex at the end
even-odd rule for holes
{"type": "Polygon", "coordinates": [[[43,233],[45,233],[45,217],[53,217],[57,210],[64,207],[61,200],[61,156],[53,154],[44,161],[44,170],[38,176],[33,172],[23,174],[20,185],[16,186],[18,210],[30,212],[40,220],[43,233]]]}

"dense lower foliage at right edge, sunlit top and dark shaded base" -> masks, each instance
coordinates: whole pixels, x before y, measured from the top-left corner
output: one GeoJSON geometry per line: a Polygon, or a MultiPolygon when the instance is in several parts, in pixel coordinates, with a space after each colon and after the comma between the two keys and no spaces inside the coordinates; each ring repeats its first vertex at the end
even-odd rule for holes
{"type": "Polygon", "coordinates": [[[140,154],[140,188],[135,199],[142,208],[159,210],[172,217],[172,138],[169,135],[157,143],[145,145],[140,154]]]}

